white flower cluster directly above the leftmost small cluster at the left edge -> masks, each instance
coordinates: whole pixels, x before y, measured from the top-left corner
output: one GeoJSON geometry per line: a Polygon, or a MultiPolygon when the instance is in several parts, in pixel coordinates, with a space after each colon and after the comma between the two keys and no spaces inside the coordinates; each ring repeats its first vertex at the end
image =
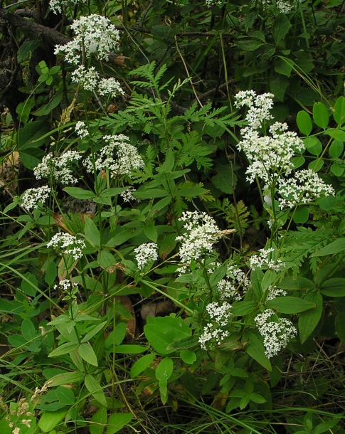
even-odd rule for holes
{"type": "Polygon", "coordinates": [[[33,169],[33,174],[36,176],[36,179],[50,179],[53,176],[55,181],[62,184],[75,184],[78,179],[73,176],[70,165],[77,162],[81,157],[81,154],[77,151],[67,151],[60,155],[60,157],[53,157],[53,154],[48,154],[33,169]]]}

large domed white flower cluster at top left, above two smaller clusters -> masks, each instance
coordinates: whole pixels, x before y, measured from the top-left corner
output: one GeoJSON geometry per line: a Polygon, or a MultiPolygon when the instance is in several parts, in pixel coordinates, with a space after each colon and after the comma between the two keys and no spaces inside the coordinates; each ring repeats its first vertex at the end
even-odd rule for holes
{"type": "Polygon", "coordinates": [[[117,49],[120,41],[119,31],[105,16],[81,16],[73,21],[70,28],[75,33],[73,41],[64,46],[55,46],[54,53],[65,55],[68,63],[73,65],[82,63],[83,53],[86,58],[96,53],[99,60],[108,60],[109,53],[117,49]]]}

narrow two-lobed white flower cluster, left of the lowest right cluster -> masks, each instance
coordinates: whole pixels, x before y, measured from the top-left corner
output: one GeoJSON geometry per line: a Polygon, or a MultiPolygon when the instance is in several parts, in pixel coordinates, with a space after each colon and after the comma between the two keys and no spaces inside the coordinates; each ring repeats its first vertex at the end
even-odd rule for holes
{"type": "Polygon", "coordinates": [[[211,319],[205,327],[198,342],[202,349],[212,349],[215,345],[221,345],[221,342],[229,335],[227,330],[221,329],[228,324],[232,306],[228,302],[223,302],[221,306],[212,302],[206,306],[206,311],[211,319]]]}

